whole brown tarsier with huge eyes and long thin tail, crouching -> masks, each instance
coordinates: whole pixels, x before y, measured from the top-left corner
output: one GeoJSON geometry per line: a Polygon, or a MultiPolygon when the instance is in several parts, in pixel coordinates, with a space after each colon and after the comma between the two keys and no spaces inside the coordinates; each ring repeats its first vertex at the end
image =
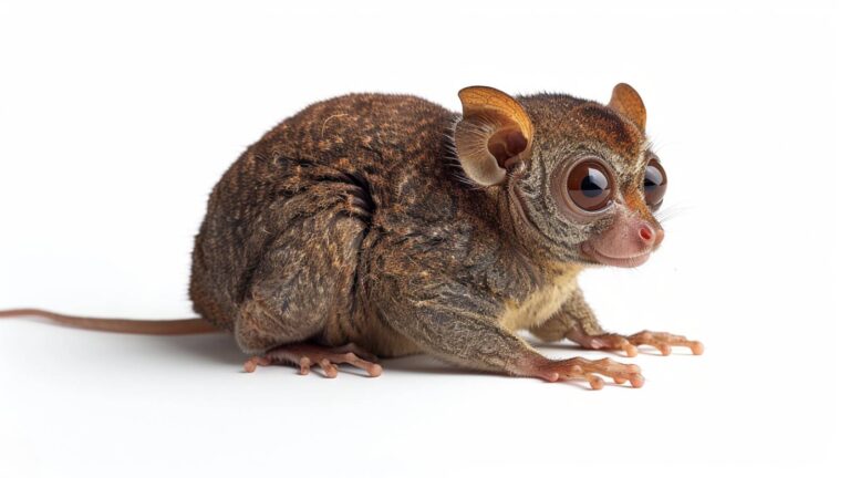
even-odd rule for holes
{"type": "MultiPolygon", "coordinates": [[[[664,238],[653,212],[667,179],[638,93],[619,84],[608,105],[486,86],[459,96],[462,114],[415,96],[341,96],[250,146],[195,240],[201,319],[46,314],[124,332],[225,330],[252,355],[249,372],[291,363],[329,377],[343,363],[376,376],[377,356],[427,353],[592,388],[643,384],[636,365],[548,358],[522,330],[628,356],[639,345],[701,354],[678,335],[605,332],[577,284],[587,267],[642,264],[664,238]]],[[[3,314],[27,312],[44,314],[3,314]]]]}

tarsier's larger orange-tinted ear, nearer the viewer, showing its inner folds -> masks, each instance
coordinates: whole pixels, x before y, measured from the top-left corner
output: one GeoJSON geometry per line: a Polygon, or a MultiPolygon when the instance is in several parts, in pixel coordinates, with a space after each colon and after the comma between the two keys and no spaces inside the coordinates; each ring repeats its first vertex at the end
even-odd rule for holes
{"type": "Polygon", "coordinates": [[[506,169],[531,150],[531,119],[516,100],[496,89],[469,86],[458,96],[464,105],[464,118],[455,128],[460,166],[481,186],[499,184],[506,169]]]}

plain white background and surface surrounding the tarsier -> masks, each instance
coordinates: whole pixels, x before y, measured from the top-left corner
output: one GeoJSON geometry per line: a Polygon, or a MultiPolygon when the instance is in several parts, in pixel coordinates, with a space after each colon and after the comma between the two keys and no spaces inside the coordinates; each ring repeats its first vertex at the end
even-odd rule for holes
{"type": "Polygon", "coordinates": [[[610,329],[684,333],[705,355],[622,358],[642,389],[427,358],[330,381],[240,373],[224,335],[7,320],[0,476],[838,475],[846,11],[560,3],[2,2],[0,309],[190,316],[207,194],[311,102],[405,92],[457,110],[471,84],[604,102],[624,81],[672,217],[646,266],[582,284],[610,329]]]}

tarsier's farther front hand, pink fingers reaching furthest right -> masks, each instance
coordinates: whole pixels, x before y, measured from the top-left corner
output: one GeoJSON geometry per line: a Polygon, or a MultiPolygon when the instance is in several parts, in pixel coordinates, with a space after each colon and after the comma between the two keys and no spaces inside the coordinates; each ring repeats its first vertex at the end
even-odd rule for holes
{"type": "Polygon", "coordinates": [[[694,355],[703,354],[703,344],[697,341],[690,341],[683,335],[673,335],[665,332],[638,332],[629,336],[620,334],[601,334],[601,335],[588,335],[580,331],[579,328],[573,329],[567,339],[578,343],[584,349],[592,350],[619,350],[623,351],[626,356],[638,355],[639,345],[650,345],[659,350],[662,355],[670,355],[673,346],[686,346],[691,349],[694,355]]]}

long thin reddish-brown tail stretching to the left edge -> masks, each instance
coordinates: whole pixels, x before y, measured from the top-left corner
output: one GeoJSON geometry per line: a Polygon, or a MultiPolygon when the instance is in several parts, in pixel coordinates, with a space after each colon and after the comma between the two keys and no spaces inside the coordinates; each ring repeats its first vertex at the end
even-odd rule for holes
{"type": "Polygon", "coordinates": [[[52,322],[102,332],[133,333],[146,335],[187,335],[209,332],[220,332],[204,319],[178,320],[132,320],[132,319],[96,319],[75,315],[64,315],[41,309],[14,309],[0,311],[0,319],[12,316],[38,316],[52,322]]]}

